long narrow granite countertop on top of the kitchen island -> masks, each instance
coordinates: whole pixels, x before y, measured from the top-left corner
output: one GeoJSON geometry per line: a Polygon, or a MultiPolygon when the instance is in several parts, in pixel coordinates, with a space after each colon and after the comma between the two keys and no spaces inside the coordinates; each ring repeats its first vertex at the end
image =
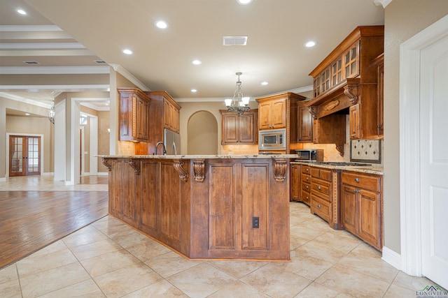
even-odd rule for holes
{"type": "Polygon", "coordinates": [[[135,159],[214,159],[214,158],[297,158],[296,154],[254,154],[254,155],[97,155],[101,158],[135,158],[135,159]]]}

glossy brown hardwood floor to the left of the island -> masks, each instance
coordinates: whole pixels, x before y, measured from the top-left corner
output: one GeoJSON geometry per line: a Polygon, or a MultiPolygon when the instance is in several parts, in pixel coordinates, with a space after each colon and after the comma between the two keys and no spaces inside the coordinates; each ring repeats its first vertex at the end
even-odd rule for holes
{"type": "Polygon", "coordinates": [[[107,212],[107,191],[0,191],[0,268],[107,212]]]}

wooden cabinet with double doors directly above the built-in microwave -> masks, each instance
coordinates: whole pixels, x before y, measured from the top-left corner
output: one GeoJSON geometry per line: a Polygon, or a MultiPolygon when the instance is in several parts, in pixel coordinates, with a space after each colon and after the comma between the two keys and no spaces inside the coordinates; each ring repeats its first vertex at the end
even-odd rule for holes
{"type": "Polygon", "coordinates": [[[297,101],[307,99],[304,96],[287,92],[273,96],[257,98],[258,129],[286,128],[286,152],[290,143],[297,142],[297,101]]]}

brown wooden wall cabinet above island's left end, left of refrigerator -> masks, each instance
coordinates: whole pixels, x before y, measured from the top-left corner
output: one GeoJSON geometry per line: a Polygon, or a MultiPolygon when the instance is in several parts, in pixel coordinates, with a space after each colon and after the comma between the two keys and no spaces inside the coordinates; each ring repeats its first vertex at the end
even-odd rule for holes
{"type": "Polygon", "coordinates": [[[134,88],[120,88],[120,141],[148,142],[151,98],[134,88]]]}

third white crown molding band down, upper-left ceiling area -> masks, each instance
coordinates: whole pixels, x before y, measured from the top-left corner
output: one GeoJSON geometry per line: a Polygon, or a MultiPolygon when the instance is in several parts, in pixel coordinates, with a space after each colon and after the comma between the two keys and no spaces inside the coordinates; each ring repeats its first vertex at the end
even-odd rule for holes
{"type": "Polygon", "coordinates": [[[111,73],[109,66],[2,66],[0,75],[78,75],[111,73]]]}

